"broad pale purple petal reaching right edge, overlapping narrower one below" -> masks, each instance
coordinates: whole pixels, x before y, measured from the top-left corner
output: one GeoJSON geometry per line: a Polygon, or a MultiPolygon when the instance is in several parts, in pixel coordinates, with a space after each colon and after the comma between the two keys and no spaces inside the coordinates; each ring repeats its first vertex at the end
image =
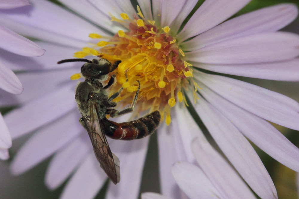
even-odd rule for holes
{"type": "Polygon", "coordinates": [[[283,61],[299,55],[294,33],[260,33],[211,44],[185,53],[186,60],[209,64],[250,64],[283,61]]]}

